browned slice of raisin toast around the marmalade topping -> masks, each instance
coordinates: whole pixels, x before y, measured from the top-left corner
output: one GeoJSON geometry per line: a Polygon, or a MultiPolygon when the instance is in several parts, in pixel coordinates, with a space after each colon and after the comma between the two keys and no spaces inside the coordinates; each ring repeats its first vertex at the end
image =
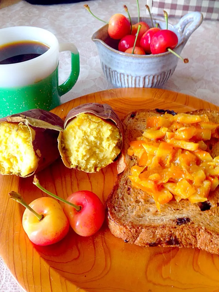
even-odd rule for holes
{"type": "MultiPolygon", "coordinates": [[[[159,110],[162,113],[161,110],[159,110]]],[[[170,112],[171,113],[171,112],[170,112]]],[[[207,109],[190,112],[207,114],[209,120],[219,123],[219,112],[207,109]]],[[[210,192],[208,201],[190,203],[171,200],[157,210],[155,201],[146,192],[132,187],[128,175],[134,157],[127,155],[130,141],[141,136],[146,128],[147,116],[159,115],[157,110],[138,110],[129,113],[122,120],[124,125],[124,146],[118,161],[120,173],[106,202],[107,222],[113,235],[125,242],[141,246],[198,247],[207,252],[219,254],[219,188],[210,192]]],[[[212,157],[219,155],[219,142],[211,138],[207,142],[212,157]]]]}

